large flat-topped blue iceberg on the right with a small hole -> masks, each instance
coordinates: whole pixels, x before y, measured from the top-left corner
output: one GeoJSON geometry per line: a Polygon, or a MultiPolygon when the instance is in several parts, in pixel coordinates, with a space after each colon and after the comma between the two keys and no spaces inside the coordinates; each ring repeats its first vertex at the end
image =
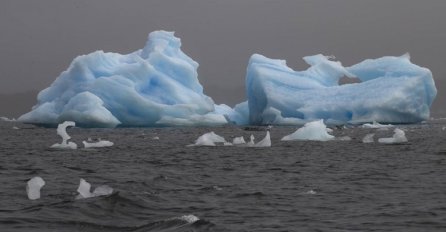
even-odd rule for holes
{"type": "Polygon", "coordinates": [[[284,60],[254,54],[246,90],[251,124],[415,123],[429,118],[437,90],[429,69],[410,62],[408,54],[365,60],[351,67],[323,55],[307,56],[305,71],[284,60]],[[342,77],[361,83],[339,85],[342,77]]]}

